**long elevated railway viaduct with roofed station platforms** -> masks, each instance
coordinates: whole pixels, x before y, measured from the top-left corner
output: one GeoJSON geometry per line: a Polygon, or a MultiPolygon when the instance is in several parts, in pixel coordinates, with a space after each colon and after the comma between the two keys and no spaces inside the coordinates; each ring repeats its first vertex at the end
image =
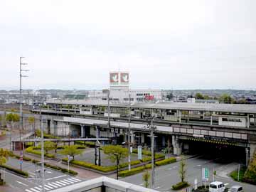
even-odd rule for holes
{"type": "Polygon", "coordinates": [[[108,108],[105,102],[75,101],[48,102],[41,112],[46,115],[48,132],[63,137],[98,134],[121,144],[127,142],[130,119],[131,142],[149,146],[147,117],[154,117],[159,150],[169,146],[176,155],[186,151],[231,153],[247,164],[256,148],[255,105],[161,102],[111,104],[108,108]]]}

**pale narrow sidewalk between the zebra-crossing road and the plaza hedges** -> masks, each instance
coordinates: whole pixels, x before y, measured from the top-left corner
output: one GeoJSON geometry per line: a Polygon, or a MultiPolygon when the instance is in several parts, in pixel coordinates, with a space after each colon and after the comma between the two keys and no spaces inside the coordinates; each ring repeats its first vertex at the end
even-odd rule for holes
{"type": "MultiPolygon", "coordinates": [[[[19,151],[14,151],[14,154],[19,155],[19,151]]],[[[37,156],[33,156],[33,155],[30,155],[30,154],[24,154],[24,156],[27,156],[31,159],[36,159],[38,161],[41,161],[41,158],[37,157],[37,156]]],[[[68,169],[68,165],[62,164],[61,161],[58,163],[57,161],[46,159],[46,163],[68,169]]],[[[73,171],[78,172],[78,177],[80,177],[80,178],[91,179],[91,178],[97,178],[97,177],[103,176],[102,174],[97,174],[93,171],[88,171],[88,170],[85,170],[85,169],[79,169],[79,168],[71,166],[71,165],[70,165],[70,169],[72,169],[73,171]]]]}

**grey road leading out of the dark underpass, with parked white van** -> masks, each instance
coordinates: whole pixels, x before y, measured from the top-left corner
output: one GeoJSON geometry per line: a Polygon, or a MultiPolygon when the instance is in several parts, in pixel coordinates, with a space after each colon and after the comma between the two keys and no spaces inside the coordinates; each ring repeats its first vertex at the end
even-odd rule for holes
{"type": "MultiPolygon", "coordinates": [[[[230,163],[226,163],[230,164],[230,163]]],[[[193,183],[197,178],[198,182],[201,182],[201,171],[202,167],[208,167],[210,171],[210,181],[213,181],[213,169],[217,169],[219,167],[223,167],[225,169],[225,164],[220,163],[216,160],[209,160],[203,158],[193,158],[186,160],[186,181],[189,183],[193,183]]],[[[155,189],[157,191],[172,191],[171,186],[178,183],[180,181],[179,174],[179,162],[174,164],[169,164],[166,166],[160,166],[156,168],[155,171],[155,189]]],[[[218,169],[220,170],[220,169],[218,169]]],[[[225,170],[223,170],[225,171],[225,170]]],[[[129,176],[127,178],[122,178],[121,180],[127,181],[129,183],[134,183],[140,186],[143,186],[144,183],[142,181],[142,174],[137,174],[134,176],[129,176]]],[[[238,184],[238,182],[233,181],[230,178],[217,177],[215,181],[223,181],[224,183],[229,183],[228,186],[233,186],[234,184],[238,184]]],[[[239,183],[241,186],[245,188],[246,192],[255,192],[256,186],[252,186],[245,183],[239,183]]]]}

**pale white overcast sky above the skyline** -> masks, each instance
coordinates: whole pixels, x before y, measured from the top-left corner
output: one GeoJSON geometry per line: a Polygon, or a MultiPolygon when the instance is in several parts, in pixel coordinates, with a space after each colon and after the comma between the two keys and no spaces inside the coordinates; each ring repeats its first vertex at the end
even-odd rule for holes
{"type": "Polygon", "coordinates": [[[256,1],[0,0],[0,88],[252,89],[256,1]]]}

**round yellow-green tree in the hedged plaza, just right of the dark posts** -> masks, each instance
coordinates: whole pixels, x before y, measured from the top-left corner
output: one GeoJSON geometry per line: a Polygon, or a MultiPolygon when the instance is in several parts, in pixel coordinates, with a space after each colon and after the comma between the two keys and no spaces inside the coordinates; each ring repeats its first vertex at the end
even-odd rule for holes
{"type": "Polygon", "coordinates": [[[128,156],[128,149],[120,145],[106,145],[102,150],[112,162],[122,161],[128,156]]]}

